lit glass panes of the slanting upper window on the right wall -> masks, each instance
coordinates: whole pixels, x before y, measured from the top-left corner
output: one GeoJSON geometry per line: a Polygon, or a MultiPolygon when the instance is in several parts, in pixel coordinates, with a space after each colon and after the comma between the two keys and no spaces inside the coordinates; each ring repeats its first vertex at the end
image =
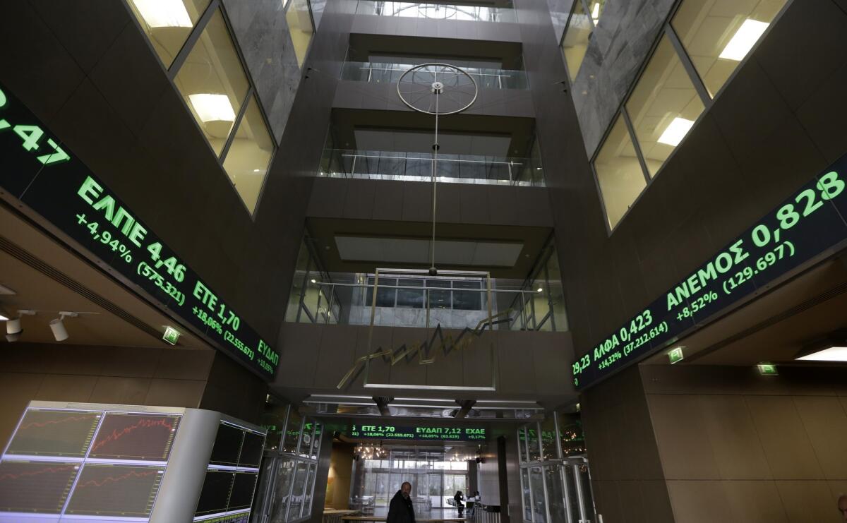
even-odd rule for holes
{"type": "MultiPolygon", "coordinates": [[[[610,233],[787,3],[679,3],[593,159],[610,233]]],[[[587,4],[583,11],[580,5],[578,1],[572,18],[589,13],[587,4]]],[[[601,14],[603,3],[597,5],[601,14]]]]}

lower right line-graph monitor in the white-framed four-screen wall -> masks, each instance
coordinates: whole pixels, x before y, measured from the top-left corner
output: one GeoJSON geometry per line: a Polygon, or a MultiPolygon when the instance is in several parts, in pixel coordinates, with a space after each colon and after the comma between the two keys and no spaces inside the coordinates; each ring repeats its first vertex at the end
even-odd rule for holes
{"type": "Polygon", "coordinates": [[[148,517],[163,472],[162,466],[86,463],[64,513],[148,517]]]}

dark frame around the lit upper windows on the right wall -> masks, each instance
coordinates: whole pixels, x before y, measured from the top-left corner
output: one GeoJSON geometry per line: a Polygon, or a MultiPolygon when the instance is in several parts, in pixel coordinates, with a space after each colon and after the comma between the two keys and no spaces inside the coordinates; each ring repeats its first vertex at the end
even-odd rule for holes
{"type": "MultiPolygon", "coordinates": [[[[765,30],[761,34],[761,36],[759,36],[759,39],[756,41],[756,43],[753,45],[753,47],[750,47],[750,51],[747,52],[747,54],[745,55],[745,58],[742,59],[739,62],[739,64],[735,67],[732,74],[730,74],[728,76],[727,80],[723,83],[723,85],[721,85],[721,88],[718,89],[717,92],[715,93],[715,96],[712,97],[712,96],[709,95],[709,90],[706,88],[705,82],[700,77],[700,74],[697,72],[697,69],[695,68],[694,63],[691,61],[691,57],[689,56],[689,53],[685,50],[684,44],[679,39],[679,36],[676,32],[676,29],[673,27],[673,18],[676,16],[676,14],[677,14],[679,8],[682,6],[682,4],[684,2],[695,2],[695,1],[696,0],[677,0],[673,4],[673,7],[668,11],[667,17],[662,22],[662,26],[661,26],[660,30],[656,33],[656,38],[654,39],[654,41],[650,45],[650,51],[647,52],[647,54],[645,55],[645,58],[640,63],[639,69],[634,76],[634,80],[628,86],[626,94],[623,96],[623,99],[621,100],[620,105],[617,107],[617,110],[615,111],[615,113],[613,113],[612,118],[610,118],[610,121],[609,121],[609,124],[606,127],[606,130],[603,133],[603,135],[601,136],[601,140],[598,142],[598,145],[596,146],[594,153],[590,157],[589,166],[590,166],[592,177],[594,178],[595,189],[597,190],[597,196],[600,199],[601,210],[603,212],[603,223],[606,227],[606,236],[607,237],[612,236],[612,234],[617,230],[618,226],[621,223],[623,223],[623,220],[629,215],[629,212],[631,212],[633,210],[634,206],[636,206],[638,204],[638,202],[645,195],[647,190],[650,189],[650,185],[653,184],[653,182],[656,179],[659,178],[659,175],[664,171],[667,163],[671,161],[671,159],[674,157],[674,155],[676,155],[679,148],[684,145],[686,140],[689,139],[689,136],[691,135],[692,131],[694,131],[694,129],[697,128],[697,125],[700,124],[700,121],[703,118],[706,117],[706,114],[709,113],[711,107],[714,105],[714,103],[718,99],[718,97],[721,96],[724,91],[726,91],[727,85],[732,83],[732,81],[735,79],[735,76],[737,74],[739,74],[739,71],[741,70],[741,68],[747,63],[747,60],[750,58],[750,55],[752,55],[754,52],[756,52],[756,49],[758,49],[758,47],[761,45],[761,42],[764,41],[765,38],[767,38],[767,36],[770,34],[771,30],[773,29],[774,25],[777,25],[778,21],[780,19],[782,19],[783,14],[785,14],[785,11],[787,11],[788,8],[794,3],[794,0],[786,0],[785,5],[783,5],[783,7],[780,8],[779,12],[773,17],[773,20],[770,23],[770,25],[768,25],[767,30],[765,30]],[[639,84],[639,81],[641,80],[642,76],[644,76],[645,69],[647,69],[647,67],[650,65],[650,60],[653,58],[653,55],[656,53],[656,48],[659,47],[659,44],[662,42],[662,38],[664,36],[667,36],[668,41],[671,42],[671,46],[673,47],[674,52],[676,52],[677,57],[679,58],[679,61],[683,64],[683,68],[685,69],[685,72],[689,75],[689,80],[691,80],[692,85],[694,85],[694,87],[695,87],[695,91],[697,91],[697,94],[700,96],[700,102],[703,103],[703,111],[697,117],[697,119],[695,120],[695,123],[691,126],[691,129],[689,129],[689,131],[685,134],[683,139],[680,140],[679,143],[677,144],[677,146],[675,146],[673,148],[673,151],[671,151],[671,153],[669,155],[667,155],[667,158],[662,163],[662,167],[658,168],[656,170],[656,174],[651,177],[650,176],[650,170],[647,168],[647,164],[646,164],[646,161],[645,161],[644,154],[641,151],[641,145],[639,144],[638,137],[635,134],[635,130],[633,128],[632,120],[629,118],[629,113],[627,111],[626,106],[627,106],[627,102],[629,101],[629,98],[632,96],[633,92],[635,91],[635,87],[639,84]],[[606,145],[606,140],[608,139],[609,135],[612,133],[612,128],[617,123],[618,117],[623,118],[623,121],[626,124],[627,132],[629,133],[629,139],[632,140],[632,143],[633,143],[633,146],[634,146],[634,149],[635,149],[635,156],[638,157],[639,165],[641,167],[641,171],[644,174],[645,180],[646,180],[647,183],[645,184],[644,189],[641,190],[639,195],[632,201],[631,204],[629,204],[626,212],[624,212],[623,215],[621,215],[620,219],[617,220],[617,223],[615,223],[615,225],[612,227],[612,224],[609,223],[609,215],[608,215],[608,212],[606,211],[606,200],[605,200],[605,198],[603,196],[603,192],[601,191],[601,188],[600,188],[600,179],[597,176],[597,169],[595,167],[595,162],[597,160],[597,157],[600,156],[600,152],[602,151],[603,146],[606,145]]],[[[576,5],[576,2],[585,3],[585,2],[587,2],[587,0],[575,0],[574,6],[576,5]]],[[[573,15],[573,8],[571,9],[571,14],[573,15]]],[[[592,23],[593,23],[593,20],[592,20],[592,23]]],[[[567,24],[570,25],[570,16],[568,16],[567,24]]],[[[564,39],[564,36],[565,36],[566,33],[567,33],[567,25],[565,26],[565,32],[562,33],[562,39],[564,39]]],[[[561,42],[560,42],[560,48],[561,48],[561,42]]],[[[564,53],[562,52],[561,54],[562,54],[562,59],[564,59],[564,53]]],[[[565,62],[566,62],[565,68],[567,70],[567,60],[565,60],[565,62]]],[[[568,80],[569,79],[570,79],[570,76],[568,76],[568,80]]]]}

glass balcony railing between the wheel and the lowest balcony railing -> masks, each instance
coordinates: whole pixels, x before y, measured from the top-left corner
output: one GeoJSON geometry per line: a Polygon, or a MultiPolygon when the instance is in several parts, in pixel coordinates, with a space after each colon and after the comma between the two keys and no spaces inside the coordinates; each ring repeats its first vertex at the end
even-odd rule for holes
{"type": "MultiPolygon", "coordinates": [[[[332,178],[432,181],[433,158],[427,152],[326,149],[320,176],[332,178]]],[[[439,182],[543,187],[544,170],[532,158],[439,154],[439,182]]]]}

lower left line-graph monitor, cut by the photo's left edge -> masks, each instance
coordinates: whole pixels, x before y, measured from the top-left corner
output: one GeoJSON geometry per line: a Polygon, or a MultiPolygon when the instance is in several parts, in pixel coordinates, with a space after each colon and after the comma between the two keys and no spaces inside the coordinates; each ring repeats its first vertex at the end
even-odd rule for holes
{"type": "Polygon", "coordinates": [[[79,463],[3,460],[0,513],[59,514],[79,469],[79,463]]]}

